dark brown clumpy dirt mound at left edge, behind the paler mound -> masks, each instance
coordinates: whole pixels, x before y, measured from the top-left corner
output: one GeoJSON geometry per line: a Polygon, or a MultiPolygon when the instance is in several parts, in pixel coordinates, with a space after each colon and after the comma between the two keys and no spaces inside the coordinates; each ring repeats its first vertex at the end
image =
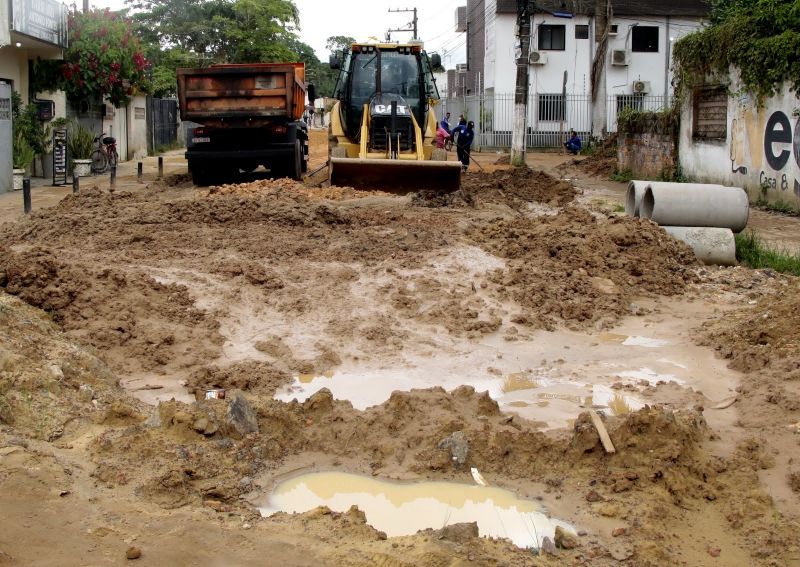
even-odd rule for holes
{"type": "Polygon", "coordinates": [[[218,353],[218,322],[195,308],[184,286],[70,262],[45,247],[0,251],[0,265],[8,293],[52,313],[71,337],[103,351],[115,370],[175,368],[218,353]],[[187,341],[198,345],[188,356],[187,341]]]}

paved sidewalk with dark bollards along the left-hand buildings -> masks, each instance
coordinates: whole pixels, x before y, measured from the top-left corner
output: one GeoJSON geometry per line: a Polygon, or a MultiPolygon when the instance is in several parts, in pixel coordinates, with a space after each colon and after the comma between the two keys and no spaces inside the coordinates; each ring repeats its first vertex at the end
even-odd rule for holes
{"type": "MultiPolygon", "coordinates": [[[[185,150],[172,150],[164,153],[164,175],[186,173],[186,159],[183,157],[185,150]]],[[[117,165],[117,191],[140,191],[148,183],[158,177],[158,157],[146,157],[141,160],[120,162],[117,165]],[[142,162],[142,182],[136,179],[136,170],[139,161],[142,162]]],[[[101,187],[107,189],[111,182],[111,172],[81,177],[81,187],[101,187]]],[[[67,178],[67,185],[54,187],[53,179],[31,177],[31,205],[32,210],[38,211],[56,205],[66,195],[72,193],[72,178],[67,178]]],[[[9,191],[0,193],[0,223],[15,221],[25,215],[22,202],[22,191],[9,191]]]]}

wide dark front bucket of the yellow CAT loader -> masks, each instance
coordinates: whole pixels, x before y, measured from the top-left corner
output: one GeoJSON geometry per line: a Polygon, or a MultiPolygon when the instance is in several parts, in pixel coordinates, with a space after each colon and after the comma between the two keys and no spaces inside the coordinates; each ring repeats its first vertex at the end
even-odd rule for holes
{"type": "Polygon", "coordinates": [[[331,158],[331,185],[389,193],[438,191],[461,187],[461,164],[451,161],[331,158]]]}

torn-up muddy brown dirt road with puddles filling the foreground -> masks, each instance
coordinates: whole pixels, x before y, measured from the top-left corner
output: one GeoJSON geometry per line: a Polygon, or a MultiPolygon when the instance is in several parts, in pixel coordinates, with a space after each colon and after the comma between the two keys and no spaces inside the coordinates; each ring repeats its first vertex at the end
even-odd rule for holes
{"type": "Polygon", "coordinates": [[[800,564],[800,283],[556,165],[5,224],[0,565],[800,564]]]}

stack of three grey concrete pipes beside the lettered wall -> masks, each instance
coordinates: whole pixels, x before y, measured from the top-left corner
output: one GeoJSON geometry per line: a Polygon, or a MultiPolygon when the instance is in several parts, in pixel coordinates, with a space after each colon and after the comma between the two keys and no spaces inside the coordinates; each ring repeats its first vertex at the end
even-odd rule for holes
{"type": "Polygon", "coordinates": [[[736,264],[734,232],[747,226],[750,203],[741,187],[631,181],[625,212],[650,219],[692,247],[704,264],[736,264]]]}

